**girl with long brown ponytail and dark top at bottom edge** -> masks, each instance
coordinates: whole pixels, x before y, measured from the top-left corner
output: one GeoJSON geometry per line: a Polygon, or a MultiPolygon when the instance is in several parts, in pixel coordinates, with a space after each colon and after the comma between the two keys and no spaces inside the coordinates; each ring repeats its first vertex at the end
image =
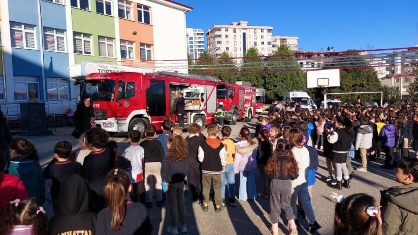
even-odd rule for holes
{"type": "Polygon", "coordinates": [[[95,234],[151,234],[145,206],[131,202],[131,177],[121,169],[111,170],[105,179],[107,207],[97,217],[95,234]]]}

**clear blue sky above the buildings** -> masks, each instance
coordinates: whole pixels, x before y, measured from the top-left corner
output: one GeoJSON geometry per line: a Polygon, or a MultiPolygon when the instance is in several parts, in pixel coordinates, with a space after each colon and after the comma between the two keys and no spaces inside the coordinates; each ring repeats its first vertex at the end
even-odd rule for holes
{"type": "Polygon", "coordinates": [[[177,0],[193,7],[187,27],[248,21],[273,26],[273,36],[299,37],[299,49],[320,51],[413,47],[418,44],[418,0],[279,1],[177,0]]]}

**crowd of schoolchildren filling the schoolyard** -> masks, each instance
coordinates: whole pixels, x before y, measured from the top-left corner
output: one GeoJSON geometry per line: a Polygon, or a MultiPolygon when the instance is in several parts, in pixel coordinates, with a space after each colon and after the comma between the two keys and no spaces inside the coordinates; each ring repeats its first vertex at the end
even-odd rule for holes
{"type": "MultiPolygon", "coordinates": [[[[351,157],[361,158],[356,170],[367,172],[367,162],[385,154],[385,169],[396,168],[396,181],[403,184],[381,192],[380,202],[364,194],[337,198],[334,234],[411,234],[418,232],[418,155],[409,156],[408,144],[417,152],[418,113],[407,107],[350,107],[316,111],[298,105],[284,111],[271,108],[271,116],[259,117],[255,136],[242,127],[239,141],[230,139],[232,129],[207,126],[207,136],[197,124],[183,128],[162,123],[156,136],[152,124],[145,127],[145,140],[133,130],[130,146],[119,156],[109,135],[92,128],[80,137],[82,150],[59,141],[54,159],[42,171],[36,147],[23,138],[10,143],[11,160],[0,154],[0,235],[3,234],[151,234],[147,208],[168,200],[170,234],[187,232],[184,182],[192,201],[203,212],[222,212],[237,205],[236,199],[270,200],[270,230],[278,234],[283,210],[289,234],[298,234],[298,219],[307,228],[321,228],[312,207],[312,188],[323,150],[330,187],[349,188],[355,174],[351,157]],[[4,169],[8,174],[3,173],[4,169]],[[257,190],[254,173],[261,175],[257,190]],[[239,179],[236,195],[236,175],[239,179]],[[49,222],[43,209],[45,179],[52,179],[54,217],[49,222]],[[228,190],[228,194],[226,193],[228,190]],[[258,192],[259,191],[259,192],[258,192]],[[65,202],[65,203],[62,203],[65,202]],[[49,225],[48,225],[49,223],[49,225]]],[[[286,223],[285,222],[285,223],[286,223]]]]}

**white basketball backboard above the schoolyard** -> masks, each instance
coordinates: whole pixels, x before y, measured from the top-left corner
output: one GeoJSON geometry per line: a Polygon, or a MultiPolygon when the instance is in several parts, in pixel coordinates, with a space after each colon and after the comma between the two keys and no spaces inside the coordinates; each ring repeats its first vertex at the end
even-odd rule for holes
{"type": "Polygon", "coordinates": [[[340,86],[340,70],[315,70],[307,72],[307,88],[340,86]]]}

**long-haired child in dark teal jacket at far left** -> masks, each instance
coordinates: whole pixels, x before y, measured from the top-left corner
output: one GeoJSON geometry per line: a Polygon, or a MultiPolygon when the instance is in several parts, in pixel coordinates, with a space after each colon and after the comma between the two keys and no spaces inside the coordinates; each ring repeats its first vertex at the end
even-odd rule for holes
{"type": "Polygon", "coordinates": [[[38,197],[43,204],[45,179],[34,144],[24,138],[17,138],[13,140],[10,149],[13,158],[10,161],[9,174],[19,177],[29,196],[38,197]]]}

